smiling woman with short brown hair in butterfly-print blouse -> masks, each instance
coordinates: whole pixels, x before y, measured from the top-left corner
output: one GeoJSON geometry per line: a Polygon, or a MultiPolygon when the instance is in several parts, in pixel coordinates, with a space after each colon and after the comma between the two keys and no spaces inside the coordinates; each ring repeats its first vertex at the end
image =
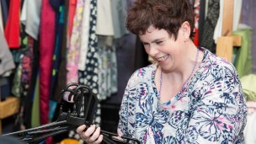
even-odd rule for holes
{"type": "MultiPolygon", "coordinates": [[[[133,73],[120,107],[119,136],[141,143],[243,143],[247,107],[235,67],[193,43],[189,0],[136,0],[127,29],[155,63],[133,73]]],[[[100,143],[100,128],[77,128],[100,143]],[[96,129],[96,130],[95,130],[96,129]]]]}

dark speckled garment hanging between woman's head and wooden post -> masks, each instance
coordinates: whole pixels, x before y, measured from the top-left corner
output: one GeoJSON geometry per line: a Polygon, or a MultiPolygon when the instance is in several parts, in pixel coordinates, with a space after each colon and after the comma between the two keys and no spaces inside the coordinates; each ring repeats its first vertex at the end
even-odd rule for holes
{"type": "Polygon", "coordinates": [[[220,11],[220,0],[209,0],[203,35],[200,45],[216,53],[216,44],[213,39],[214,29],[216,27],[220,11]]]}

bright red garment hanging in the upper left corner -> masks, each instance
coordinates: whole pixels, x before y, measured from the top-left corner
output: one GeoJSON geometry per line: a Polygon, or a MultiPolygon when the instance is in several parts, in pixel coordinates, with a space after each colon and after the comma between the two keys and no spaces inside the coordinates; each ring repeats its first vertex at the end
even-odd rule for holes
{"type": "Polygon", "coordinates": [[[4,29],[9,48],[19,48],[19,11],[20,0],[10,0],[8,19],[4,29]]]}

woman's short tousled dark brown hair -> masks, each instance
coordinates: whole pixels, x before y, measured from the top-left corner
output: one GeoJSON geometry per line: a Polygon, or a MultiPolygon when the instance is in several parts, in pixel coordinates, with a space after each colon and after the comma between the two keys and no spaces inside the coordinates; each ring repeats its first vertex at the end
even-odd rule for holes
{"type": "Polygon", "coordinates": [[[126,28],[135,35],[145,34],[153,25],[157,29],[166,29],[169,35],[177,39],[181,24],[188,21],[194,37],[195,15],[189,0],[136,0],[126,19],[126,28]]]}

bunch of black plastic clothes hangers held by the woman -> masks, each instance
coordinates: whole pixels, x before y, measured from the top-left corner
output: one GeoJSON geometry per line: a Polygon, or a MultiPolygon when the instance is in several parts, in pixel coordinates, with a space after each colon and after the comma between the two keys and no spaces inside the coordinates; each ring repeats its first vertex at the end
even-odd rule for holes
{"type": "MultiPolygon", "coordinates": [[[[70,109],[67,112],[63,112],[61,108],[59,109],[59,115],[55,122],[51,122],[46,125],[40,125],[35,128],[30,128],[24,131],[16,131],[8,133],[2,136],[13,136],[19,138],[20,141],[25,141],[29,144],[40,143],[40,141],[45,141],[47,137],[56,136],[67,131],[76,130],[80,125],[92,125],[93,118],[97,109],[97,104],[99,99],[96,94],[92,92],[91,88],[85,85],[79,85],[77,83],[70,83],[65,89],[61,91],[61,99],[64,93],[68,94],[68,100],[73,99],[75,104],[75,109],[71,111],[70,109]],[[84,115],[81,116],[82,102],[84,102],[84,115]]],[[[87,126],[88,127],[88,126],[87,126]]],[[[104,136],[103,143],[106,144],[125,144],[125,143],[134,143],[140,144],[140,141],[121,136],[116,138],[118,135],[111,133],[109,131],[100,131],[104,136]]]]}

